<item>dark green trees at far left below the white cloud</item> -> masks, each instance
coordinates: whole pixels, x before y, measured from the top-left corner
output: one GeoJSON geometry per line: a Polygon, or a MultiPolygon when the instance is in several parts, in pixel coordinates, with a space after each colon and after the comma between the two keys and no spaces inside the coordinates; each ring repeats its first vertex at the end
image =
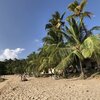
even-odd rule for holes
{"type": "Polygon", "coordinates": [[[0,62],[0,75],[23,74],[26,72],[26,68],[27,63],[25,59],[5,60],[0,62]]]}

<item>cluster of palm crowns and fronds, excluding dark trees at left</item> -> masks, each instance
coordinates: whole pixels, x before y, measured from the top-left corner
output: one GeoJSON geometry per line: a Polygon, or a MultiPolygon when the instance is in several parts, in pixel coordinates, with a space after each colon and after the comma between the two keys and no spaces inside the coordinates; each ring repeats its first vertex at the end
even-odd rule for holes
{"type": "MultiPolygon", "coordinates": [[[[46,24],[47,35],[43,38],[43,47],[39,50],[37,58],[30,59],[31,63],[38,72],[48,71],[54,68],[55,71],[65,70],[72,66],[76,72],[84,74],[84,61],[89,59],[94,61],[99,68],[100,61],[100,36],[93,33],[99,30],[99,26],[87,29],[84,18],[91,18],[92,13],[85,11],[87,0],[78,2],[75,0],[68,5],[72,15],[67,17],[64,22],[64,15],[55,12],[46,24]]],[[[87,67],[87,66],[85,66],[87,67]]]]}

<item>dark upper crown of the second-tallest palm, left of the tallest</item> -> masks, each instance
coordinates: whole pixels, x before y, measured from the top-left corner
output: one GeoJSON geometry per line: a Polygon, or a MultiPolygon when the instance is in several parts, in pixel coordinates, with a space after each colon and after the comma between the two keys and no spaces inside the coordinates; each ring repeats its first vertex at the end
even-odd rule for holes
{"type": "Polygon", "coordinates": [[[45,44],[58,44],[59,42],[63,42],[63,33],[61,31],[64,26],[64,15],[65,13],[60,15],[59,12],[55,12],[49,20],[49,23],[46,24],[47,36],[43,38],[45,44]]]}

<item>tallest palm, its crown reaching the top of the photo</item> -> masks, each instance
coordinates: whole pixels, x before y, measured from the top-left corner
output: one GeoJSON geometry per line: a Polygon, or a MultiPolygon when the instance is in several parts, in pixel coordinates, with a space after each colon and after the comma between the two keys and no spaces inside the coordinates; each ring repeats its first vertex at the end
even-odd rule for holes
{"type": "Polygon", "coordinates": [[[75,0],[73,3],[69,4],[68,9],[72,11],[73,14],[67,17],[67,20],[69,20],[70,18],[80,19],[80,22],[81,22],[80,25],[82,26],[82,29],[84,30],[86,34],[85,38],[87,38],[89,34],[88,34],[85,24],[83,23],[83,19],[85,17],[91,18],[91,15],[93,15],[91,12],[84,11],[86,4],[87,4],[87,0],[82,0],[80,3],[77,0],[75,0]]]}

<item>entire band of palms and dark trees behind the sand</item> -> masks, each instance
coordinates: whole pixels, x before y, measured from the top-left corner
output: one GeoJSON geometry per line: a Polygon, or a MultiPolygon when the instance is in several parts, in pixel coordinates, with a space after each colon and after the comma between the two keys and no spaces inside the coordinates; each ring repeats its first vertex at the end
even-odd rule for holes
{"type": "Polygon", "coordinates": [[[75,0],[68,5],[72,12],[64,21],[65,13],[55,12],[46,24],[47,35],[43,47],[31,53],[27,59],[0,62],[0,74],[39,76],[41,72],[63,77],[91,75],[100,71],[100,35],[94,34],[99,26],[87,29],[84,19],[92,17],[85,11],[87,0],[75,0]],[[52,72],[54,69],[54,72],[52,72]]]}

